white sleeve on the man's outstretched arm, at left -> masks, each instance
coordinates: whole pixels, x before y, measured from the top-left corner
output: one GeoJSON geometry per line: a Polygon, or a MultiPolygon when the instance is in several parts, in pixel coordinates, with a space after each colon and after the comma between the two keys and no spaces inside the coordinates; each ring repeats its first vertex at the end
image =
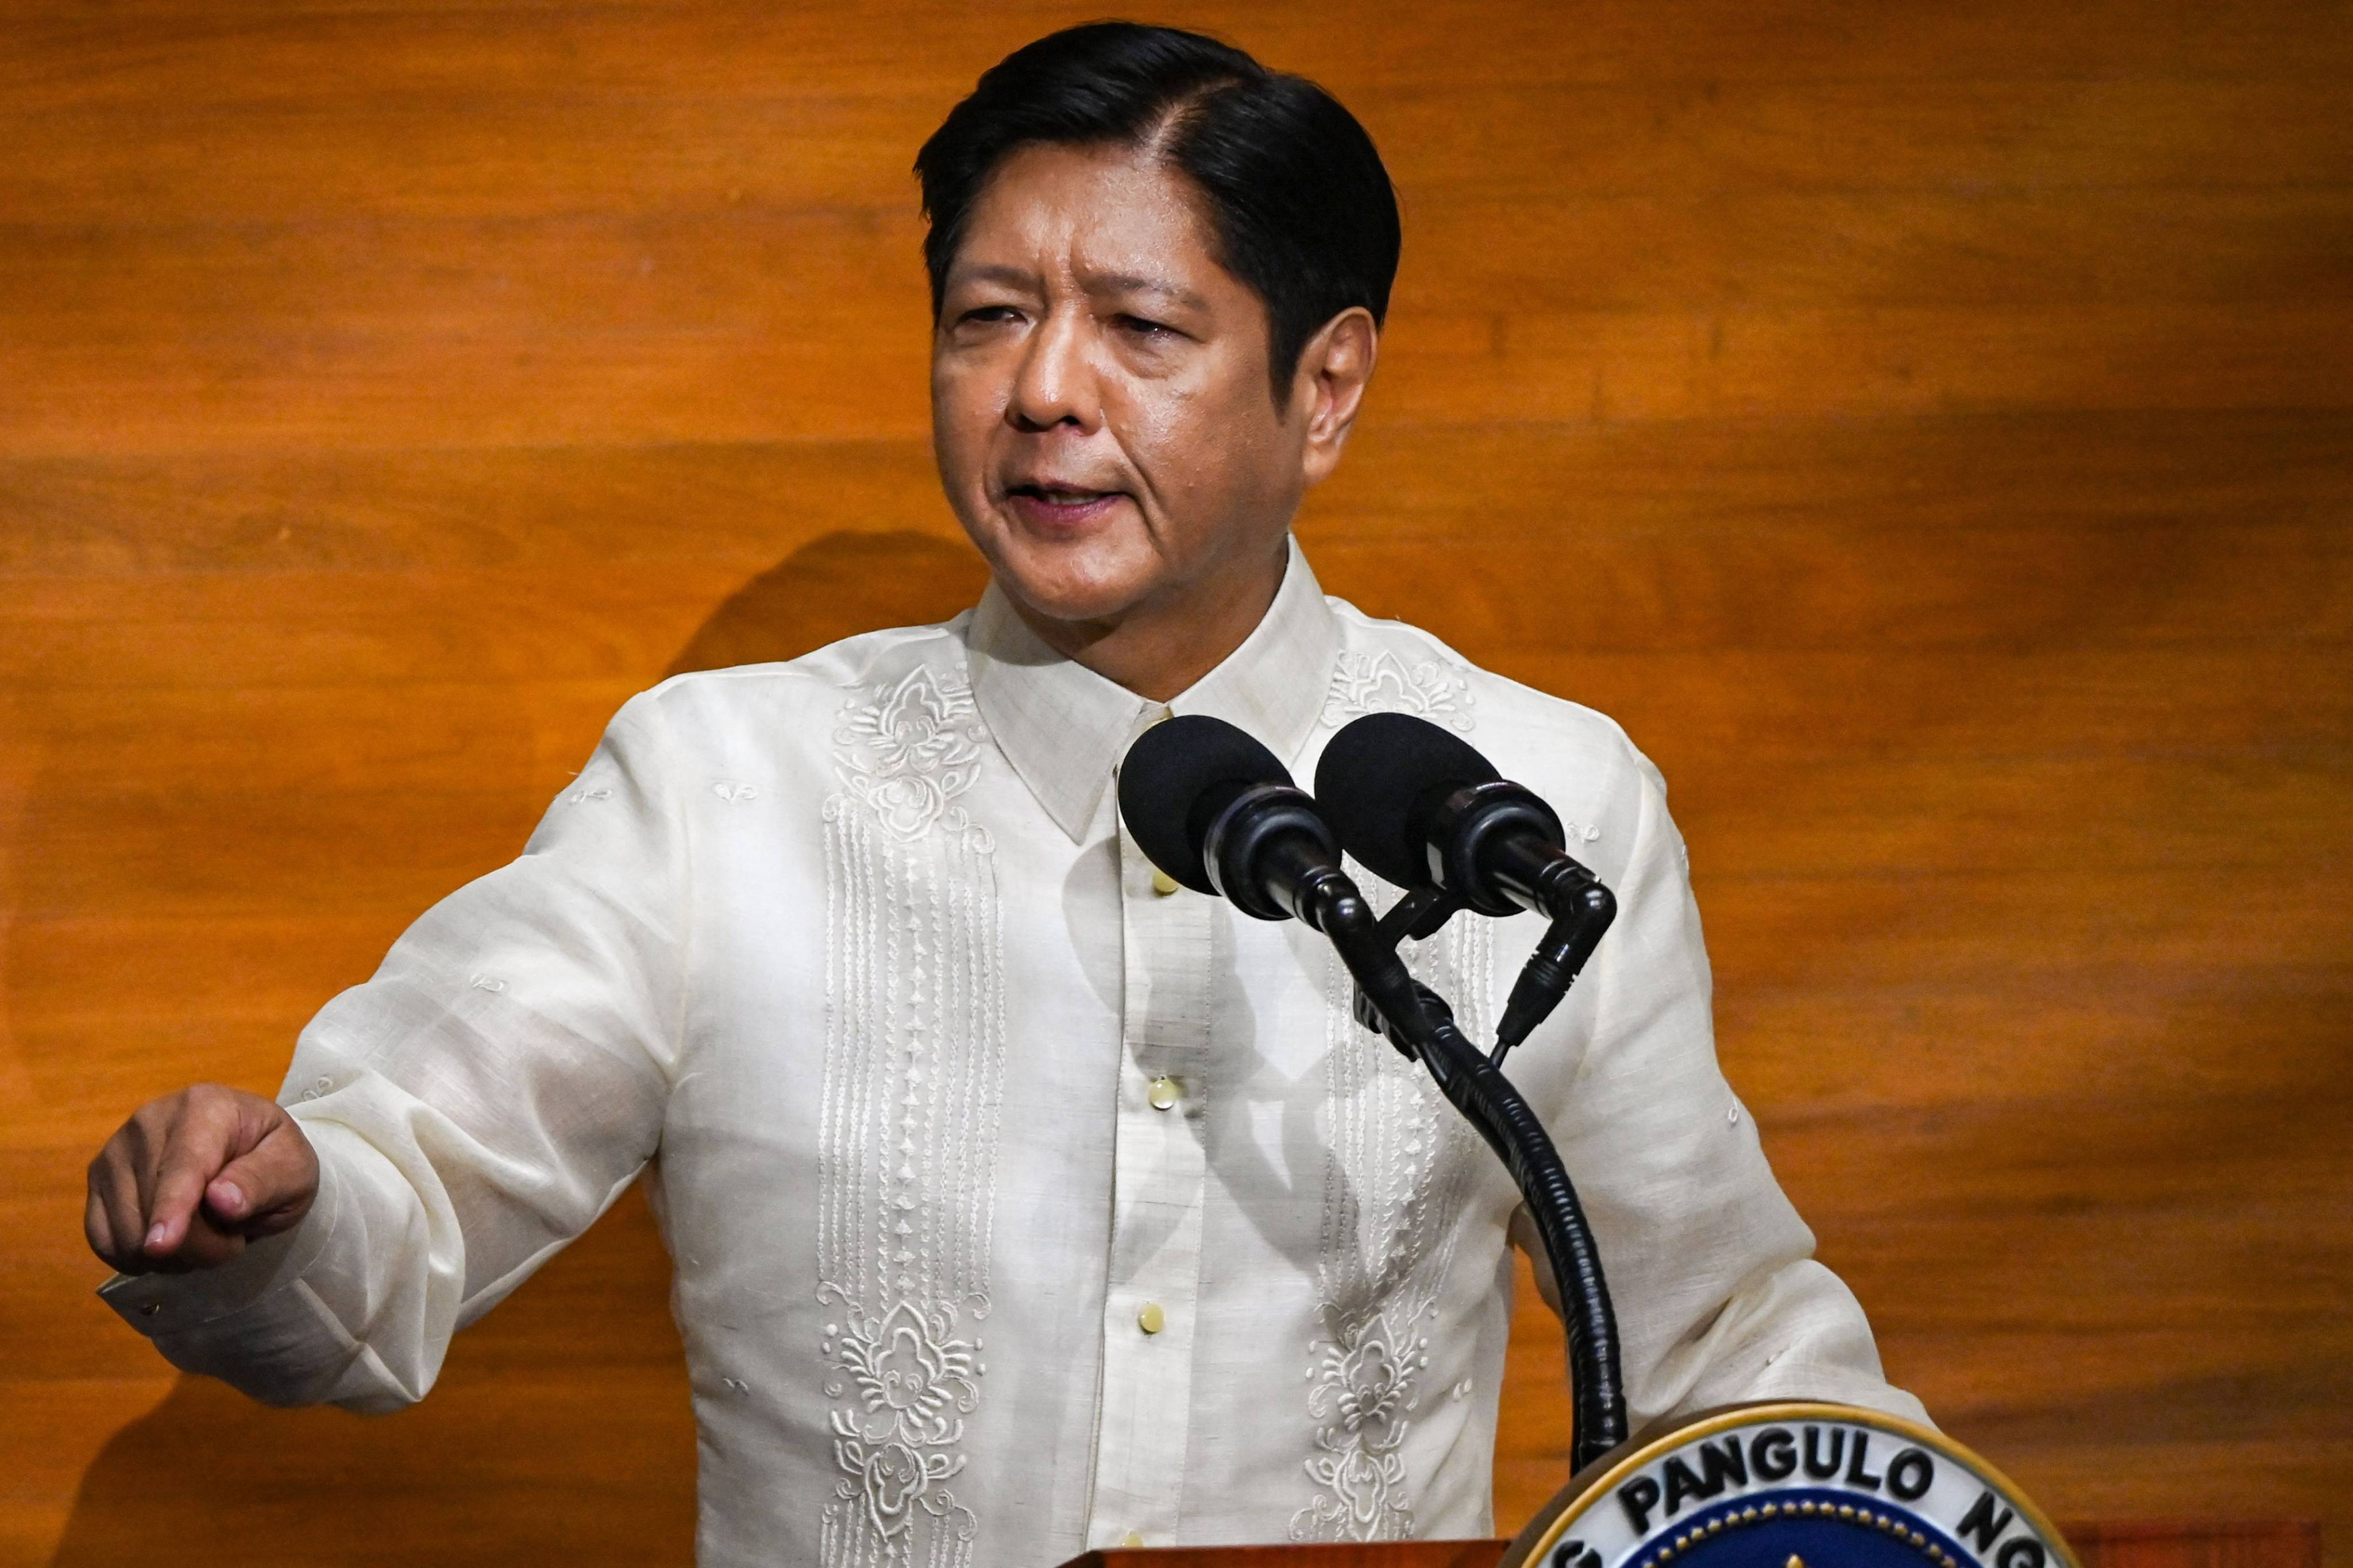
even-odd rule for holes
{"type": "Polygon", "coordinates": [[[268,1403],[412,1403],[449,1335],[652,1159],[687,952],[659,701],[614,717],[522,858],[304,1030],[280,1091],[320,1159],[304,1222],[221,1269],[101,1291],[172,1363],[268,1403]]]}

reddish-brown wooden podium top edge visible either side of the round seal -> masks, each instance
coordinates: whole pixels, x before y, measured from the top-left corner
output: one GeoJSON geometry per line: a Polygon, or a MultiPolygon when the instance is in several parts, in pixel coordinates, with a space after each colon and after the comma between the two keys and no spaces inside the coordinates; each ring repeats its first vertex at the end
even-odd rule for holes
{"type": "MultiPolygon", "coordinates": [[[[2320,1568],[2311,1519],[2087,1521],[2059,1526],[2082,1568],[2320,1568]]],[[[1494,1568],[1501,1540],[1367,1547],[1162,1547],[1089,1552],[1066,1568],[1494,1568]]]]}

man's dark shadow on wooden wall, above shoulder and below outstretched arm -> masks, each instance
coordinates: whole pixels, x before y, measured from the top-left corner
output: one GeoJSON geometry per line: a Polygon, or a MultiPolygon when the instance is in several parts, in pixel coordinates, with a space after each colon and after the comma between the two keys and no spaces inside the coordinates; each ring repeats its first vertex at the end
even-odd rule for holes
{"type": "MultiPolygon", "coordinates": [[[[732,592],[666,672],[946,621],[986,581],[958,541],[826,534],[732,592]]],[[[633,1192],[459,1335],[398,1418],[271,1410],[181,1378],[82,1474],[52,1568],[685,1563],[694,1425],[668,1276],[633,1192]]]]}

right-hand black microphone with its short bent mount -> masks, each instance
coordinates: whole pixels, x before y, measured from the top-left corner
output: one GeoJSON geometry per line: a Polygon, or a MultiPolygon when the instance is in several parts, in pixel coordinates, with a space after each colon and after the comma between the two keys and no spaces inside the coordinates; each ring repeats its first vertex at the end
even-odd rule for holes
{"type": "Polygon", "coordinates": [[[1480,914],[1534,910],[1551,926],[1520,969],[1497,1060],[1544,1023],[1593,957],[1617,898],[1567,851],[1544,797],[1466,741],[1409,712],[1367,712],[1315,764],[1315,804],[1341,846],[1398,886],[1435,886],[1480,914]]]}

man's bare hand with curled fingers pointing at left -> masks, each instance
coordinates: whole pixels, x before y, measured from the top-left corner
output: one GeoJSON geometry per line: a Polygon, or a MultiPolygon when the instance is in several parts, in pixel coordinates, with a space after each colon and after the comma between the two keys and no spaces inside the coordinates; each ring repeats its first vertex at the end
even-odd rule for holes
{"type": "Polygon", "coordinates": [[[89,1161],[82,1234],[122,1274],[212,1269],[292,1229],[318,1154],[275,1103],[221,1084],[148,1100],[89,1161]]]}

